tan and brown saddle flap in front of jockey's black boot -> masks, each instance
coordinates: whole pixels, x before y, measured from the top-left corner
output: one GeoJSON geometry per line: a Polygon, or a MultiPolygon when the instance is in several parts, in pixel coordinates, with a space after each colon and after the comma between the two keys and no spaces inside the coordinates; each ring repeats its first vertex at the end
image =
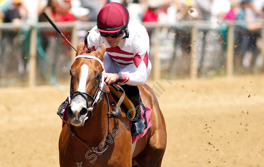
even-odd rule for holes
{"type": "MultiPolygon", "coordinates": [[[[122,96],[122,93],[120,91],[116,91],[112,86],[108,85],[109,90],[119,99],[122,96]]],[[[132,111],[129,112],[132,119],[135,117],[135,106],[133,103],[129,100],[129,98],[125,95],[125,98],[122,102],[126,109],[129,111],[132,109],[132,111]]]]}

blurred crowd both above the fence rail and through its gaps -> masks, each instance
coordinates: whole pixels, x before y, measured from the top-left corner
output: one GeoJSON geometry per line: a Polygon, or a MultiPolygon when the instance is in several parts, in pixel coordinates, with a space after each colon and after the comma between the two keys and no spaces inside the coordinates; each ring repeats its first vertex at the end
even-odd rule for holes
{"type": "MultiPolygon", "coordinates": [[[[211,23],[221,22],[226,17],[230,18],[230,13],[235,20],[244,20],[249,24],[238,26],[235,30],[235,66],[236,68],[249,68],[250,72],[257,64],[257,56],[260,54],[260,47],[258,39],[261,37],[261,24],[257,20],[264,17],[264,0],[0,0],[0,23],[26,23],[35,24],[38,22],[46,22],[47,20],[41,15],[46,12],[47,15],[54,22],[72,22],[72,21],[92,21],[96,22],[97,13],[99,9],[108,2],[122,3],[129,11],[130,19],[138,22],[154,22],[157,24],[177,25],[179,21],[188,20],[207,20],[211,23]],[[256,23],[254,23],[256,22],[256,23]],[[251,55],[250,55],[251,54],[251,55]],[[246,56],[246,57],[245,57],[246,56]]],[[[214,27],[215,28],[215,27],[214,27]]],[[[64,32],[65,36],[70,39],[70,32],[64,32]]],[[[201,32],[200,32],[201,33],[201,32]]],[[[203,35],[198,34],[200,41],[202,41],[210,30],[204,30],[203,35]]],[[[0,63],[1,72],[0,78],[5,69],[5,56],[8,55],[9,50],[12,50],[16,45],[14,37],[18,36],[18,43],[23,48],[23,57],[28,57],[29,54],[29,31],[26,29],[12,31],[1,31],[1,48],[0,48],[0,63]],[[27,39],[27,40],[25,40],[27,39]],[[24,43],[23,43],[24,40],[24,43]],[[21,42],[22,41],[22,42],[21,42]],[[3,43],[5,45],[3,45],[3,43]]],[[[151,42],[155,42],[153,34],[150,34],[151,42]]],[[[214,57],[210,57],[209,61],[206,57],[199,60],[199,70],[203,73],[206,66],[222,67],[225,66],[225,50],[226,41],[225,35],[222,41],[210,45],[208,53],[214,57]],[[215,50],[221,48],[220,52],[215,53],[215,50]],[[217,55],[218,54],[218,55],[217,55]],[[220,60],[220,61],[219,61],[220,60]],[[209,62],[209,63],[208,63],[209,62]]],[[[160,34],[161,48],[171,46],[171,65],[174,61],[181,61],[182,57],[190,54],[190,29],[189,30],[169,30],[162,29],[160,34]],[[179,54],[180,53],[180,54],[179,54]]],[[[38,33],[38,53],[39,55],[47,55],[54,57],[54,55],[63,52],[64,55],[70,57],[70,48],[66,47],[66,43],[61,39],[64,46],[58,46],[58,34],[51,32],[38,33]],[[56,47],[55,47],[56,46],[56,47]],[[55,47],[55,49],[54,49],[55,47]],[[44,51],[44,52],[41,52],[44,51]]],[[[153,44],[154,45],[154,44],[153,44]]],[[[163,50],[166,50],[166,48],[163,50]]],[[[168,53],[160,55],[161,58],[168,58],[168,53]],[[166,57],[167,56],[167,57],[166,57]]],[[[55,56],[56,57],[56,56],[55,56]]],[[[43,58],[46,59],[46,58],[43,58]]],[[[50,59],[52,60],[52,58],[50,59]]],[[[20,60],[19,60],[20,61],[20,60]]],[[[25,70],[26,61],[22,65],[25,70]]],[[[55,69],[56,59],[53,59],[49,64],[55,69]]],[[[262,61],[263,60],[259,60],[262,61]]],[[[21,64],[21,63],[20,63],[21,64]]],[[[63,64],[63,63],[62,63],[63,64]]],[[[179,64],[179,63],[178,63],[179,64]]],[[[65,66],[65,64],[63,64],[65,66]]],[[[261,64],[263,65],[263,64],[261,64]]],[[[20,68],[22,69],[22,68],[20,68]]],[[[23,69],[21,70],[23,71],[23,69]]],[[[208,71],[205,71],[206,73],[208,71]]],[[[54,81],[53,81],[54,82],[54,81]]],[[[0,83],[1,84],[1,83],[0,83]]]]}

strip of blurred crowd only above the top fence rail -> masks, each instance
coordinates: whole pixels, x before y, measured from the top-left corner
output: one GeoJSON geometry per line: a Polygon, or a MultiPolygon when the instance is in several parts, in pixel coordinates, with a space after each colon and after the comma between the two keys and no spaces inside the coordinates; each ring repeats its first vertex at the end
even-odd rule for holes
{"type": "Polygon", "coordinates": [[[0,20],[15,22],[12,18],[18,18],[29,22],[43,21],[39,16],[45,11],[53,21],[96,21],[99,9],[108,2],[124,4],[129,10],[130,19],[138,22],[214,22],[225,18],[230,12],[234,13],[235,18],[239,16],[238,19],[254,20],[264,16],[264,0],[0,0],[0,20]],[[241,16],[243,14],[246,17],[241,16]]]}

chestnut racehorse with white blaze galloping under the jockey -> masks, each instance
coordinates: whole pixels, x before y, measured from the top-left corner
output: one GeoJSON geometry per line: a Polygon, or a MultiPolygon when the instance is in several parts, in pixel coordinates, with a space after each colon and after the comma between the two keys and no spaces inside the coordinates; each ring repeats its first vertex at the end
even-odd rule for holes
{"type": "Polygon", "coordinates": [[[132,148],[130,120],[124,108],[120,107],[122,112],[118,119],[107,117],[107,112],[113,111],[113,107],[109,106],[101,87],[106,46],[103,43],[99,51],[84,48],[82,41],[70,69],[70,104],[68,117],[64,120],[67,126],[63,126],[58,144],[60,166],[161,166],[167,132],[158,103],[151,103],[157,97],[146,84],[138,86],[141,97],[150,93],[154,95],[149,97],[150,102],[145,102],[152,109],[152,126],[132,148]],[[99,95],[99,92],[102,93],[99,95]],[[95,100],[96,97],[100,98],[95,100]]]}

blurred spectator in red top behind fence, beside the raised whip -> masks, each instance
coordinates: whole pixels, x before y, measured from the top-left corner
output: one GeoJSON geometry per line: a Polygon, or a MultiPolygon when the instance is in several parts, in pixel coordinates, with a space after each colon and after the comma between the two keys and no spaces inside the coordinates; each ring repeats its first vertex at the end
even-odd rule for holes
{"type": "MultiPolygon", "coordinates": [[[[74,15],[69,12],[70,8],[71,4],[69,0],[61,2],[49,0],[44,11],[54,22],[75,21],[74,15]]],[[[39,19],[40,21],[47,21],[42,15],[40,15],[39,19]]],[[[62,31],[62,33],[70,40],[69,31],[62,31]]],[[[41,46],[43,50],[46,51],[47,60],[49,60],[47,69],[49,69],[50,81],[52,85],[55,85],[56,74],[59,74],[61,70],[68,71],[67,66],[70,66],[71,47],[69,47],[65,39],[61,38],[56,31],[41,32],[40,38],[41,46]],[[61,67],[59,67],[60,65],[61,67]]]]}

